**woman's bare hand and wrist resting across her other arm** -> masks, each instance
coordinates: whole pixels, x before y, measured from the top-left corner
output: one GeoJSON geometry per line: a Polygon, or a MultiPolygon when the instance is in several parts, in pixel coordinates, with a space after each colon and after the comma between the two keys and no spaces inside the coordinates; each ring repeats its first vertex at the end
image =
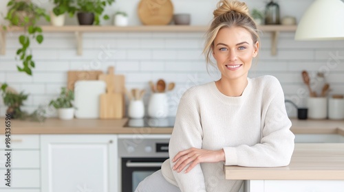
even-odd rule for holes
{"type": "Polygon", "coordinates": [[[188,173],[198,163],[217,163],[222,160],[226,160],[223,149],[211,151],[206,149],[190,148],[179,152],[173,158],[172,162],[175,163],[177,161],[177,163],[175,163],[173,166],[173,170],[178,171],[178,173],[182,171],[186,165],[191,163],[185,170],[185,173],[188,173]]]}

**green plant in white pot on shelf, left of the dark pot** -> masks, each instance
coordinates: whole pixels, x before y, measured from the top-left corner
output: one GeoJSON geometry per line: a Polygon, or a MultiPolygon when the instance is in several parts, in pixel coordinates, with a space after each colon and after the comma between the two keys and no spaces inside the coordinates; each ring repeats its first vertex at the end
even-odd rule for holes
{"type": "Polygon", "coordinates": [[[54,26],[65,25],[65,13],[74,16],[76,8],[73,6],[74,0],[53,0],[54,8],[50,12],[50,23],[54,26]]]}

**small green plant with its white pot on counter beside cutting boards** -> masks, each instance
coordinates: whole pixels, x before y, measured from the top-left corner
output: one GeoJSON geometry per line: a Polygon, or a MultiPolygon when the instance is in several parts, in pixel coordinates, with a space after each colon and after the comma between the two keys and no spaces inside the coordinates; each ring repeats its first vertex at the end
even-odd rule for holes
{"type": "Polygon", "coordinates": [[[49,106],[54,106],[57,109],[58,117],[60,119],[68,120],[74,118],[74,107],[72,101],[74,100],[74,93],[65,87],[61,88],[61,93],[57,99],[50,101],[49,106]]]}

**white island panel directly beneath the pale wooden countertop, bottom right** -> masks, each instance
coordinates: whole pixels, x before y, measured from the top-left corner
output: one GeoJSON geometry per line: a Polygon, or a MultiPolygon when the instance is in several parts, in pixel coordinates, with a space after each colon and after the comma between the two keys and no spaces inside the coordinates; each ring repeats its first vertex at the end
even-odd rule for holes
{"type": "Polygon", "coordinates": [[[250,180],[250,192],[343,192],[344,180],[250,180]]]}

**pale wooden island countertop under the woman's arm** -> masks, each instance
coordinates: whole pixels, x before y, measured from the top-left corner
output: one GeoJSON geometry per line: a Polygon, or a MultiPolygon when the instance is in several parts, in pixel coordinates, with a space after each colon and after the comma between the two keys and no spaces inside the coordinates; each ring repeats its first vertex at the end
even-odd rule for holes
{"type": "Polygon", "coordinates": [[[296,143],[287,167],[224,169],[228,180],[344,180],[344,143],[296,143]]]}

